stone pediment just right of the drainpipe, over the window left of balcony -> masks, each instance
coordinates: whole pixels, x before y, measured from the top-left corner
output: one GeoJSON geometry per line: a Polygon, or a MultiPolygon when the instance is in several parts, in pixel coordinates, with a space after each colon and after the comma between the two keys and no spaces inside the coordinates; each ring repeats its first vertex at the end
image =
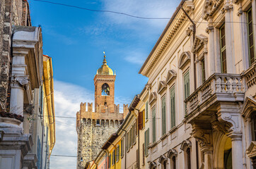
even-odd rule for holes
{"type": "Polygon", "coordinates": [[[194,39],[192,52],[197,53],[202,48],[204,48],[204,52],[207,52],[207,39],[208,38],[202,34],[197,35],[194,39]]]}

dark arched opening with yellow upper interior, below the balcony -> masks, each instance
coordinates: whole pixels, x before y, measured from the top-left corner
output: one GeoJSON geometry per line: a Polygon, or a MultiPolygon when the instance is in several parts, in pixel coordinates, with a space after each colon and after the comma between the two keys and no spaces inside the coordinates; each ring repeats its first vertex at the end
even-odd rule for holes
{"type": "Polygon", "coordinates": [[[232,169],[232,142],[229,137],[224,146],[224,168],[232,169]]]}

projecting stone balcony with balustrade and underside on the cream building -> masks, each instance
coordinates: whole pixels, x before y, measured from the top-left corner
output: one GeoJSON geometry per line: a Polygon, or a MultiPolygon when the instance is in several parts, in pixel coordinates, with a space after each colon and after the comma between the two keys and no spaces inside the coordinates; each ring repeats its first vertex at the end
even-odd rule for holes
{"type": "Polygon", "coordinates": [[[238,103],[243,101],[245,84],[238,74],[215,73],[196,89],[186,100],[185,119],[205,120],[211,118],[209,112],[218,111],[221,103],[238,103]]]}

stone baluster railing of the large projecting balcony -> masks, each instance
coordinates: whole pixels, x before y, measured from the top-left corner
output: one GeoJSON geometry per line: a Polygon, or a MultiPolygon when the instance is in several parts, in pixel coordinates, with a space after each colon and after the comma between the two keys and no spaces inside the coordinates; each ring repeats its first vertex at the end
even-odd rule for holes
{"type": "Polygon", "coordinates": [[[243,100],[243,92],[240,75],[215,73],[185,100],[186,114],[194,111],[209,98],[216,101],[243,100]]]}

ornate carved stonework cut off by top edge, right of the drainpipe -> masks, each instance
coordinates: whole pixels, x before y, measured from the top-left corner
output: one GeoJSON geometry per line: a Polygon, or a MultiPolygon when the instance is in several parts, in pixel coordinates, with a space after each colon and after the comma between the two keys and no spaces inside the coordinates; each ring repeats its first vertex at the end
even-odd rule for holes
{"type": "Polygon", "coordinates": [[[209,20],[209,18],[214,15],[217,9],[221,6],[223,0],[206,0],[204,1],[204,7],[202,12],[202,18],[204,20],[209,20]]]}

